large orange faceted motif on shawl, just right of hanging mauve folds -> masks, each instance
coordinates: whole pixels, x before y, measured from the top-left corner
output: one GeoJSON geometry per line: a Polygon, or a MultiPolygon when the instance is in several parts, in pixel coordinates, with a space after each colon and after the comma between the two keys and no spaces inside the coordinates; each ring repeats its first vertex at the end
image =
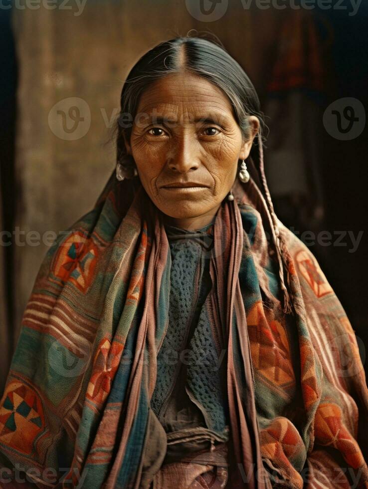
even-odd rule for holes
{"type": "Polygon", "coordinates": [[[252,305],[247,314],[247,325],[252,362],[257,372],[278,386],[295,383],[284,326],[273,319],[272,312],[264,309],[261,301],[252,305]]]}

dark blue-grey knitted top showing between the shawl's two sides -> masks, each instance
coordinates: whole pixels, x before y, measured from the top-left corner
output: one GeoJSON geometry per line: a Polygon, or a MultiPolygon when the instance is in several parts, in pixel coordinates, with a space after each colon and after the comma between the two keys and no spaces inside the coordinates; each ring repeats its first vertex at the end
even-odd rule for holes
{"type": "Polygon", "coordinates": [[[179,386],[176,388],[176,385],[181,384],[182,379],[186,381],[185,386],[180,386],[184,407],[173,420],[176,428],[188,426],[187,421],[182,426],[178,422],[185,410],[192,413],[193,420],[203,416],[205,423],[199,425],[219,434],[226,427],[223,355],[220,357],[221,350],[216,348],[203,307],[211,288],[207,249],[213,241],[212,227],[211,223],[189,232],[166,226],[172,259],[169,325],[158,354],[151,407],[167,431],[171,423],[168,423],[170,419],[165,419],[166,407],[173,395],[177,395],[179,386]],[[198,232],[206,234],[205,240],[196,238],[198,232]],[[184,387],[190,390],[196,404],[187,397],[184,387]]]}

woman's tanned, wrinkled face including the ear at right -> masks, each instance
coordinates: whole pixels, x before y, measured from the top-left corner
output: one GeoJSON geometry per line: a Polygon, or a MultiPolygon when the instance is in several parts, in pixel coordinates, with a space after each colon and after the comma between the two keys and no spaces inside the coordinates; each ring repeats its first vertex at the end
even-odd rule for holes
{"type": "Polygon", "coordinates": [[[234,183],[258,130],[248,141],[227,96],[202,77],[167,75],[141,96],[128,153],[153,203],[168,222],[198,229],[210,222],[234,183]],[[204,223],[204,224],[203,224],[204,223]]]}

